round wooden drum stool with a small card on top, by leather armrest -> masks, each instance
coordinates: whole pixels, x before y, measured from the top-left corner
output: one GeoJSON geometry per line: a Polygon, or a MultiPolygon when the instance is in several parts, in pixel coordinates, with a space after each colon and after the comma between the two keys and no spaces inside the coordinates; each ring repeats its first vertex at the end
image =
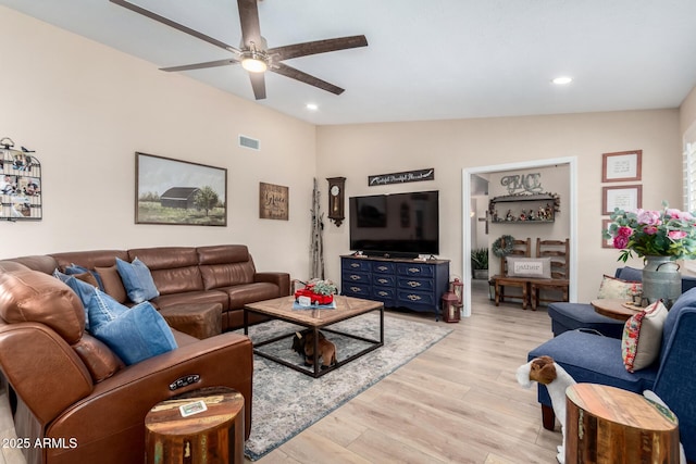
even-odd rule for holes
{"type": "Polygon", "coordinates": [[[227,387],[212,387],[162,401],[145,417],[148,464],[241,464],[244,397],[227,387]],[[179,406],[195,401],[207,411],[182,416],[179,406]]]}

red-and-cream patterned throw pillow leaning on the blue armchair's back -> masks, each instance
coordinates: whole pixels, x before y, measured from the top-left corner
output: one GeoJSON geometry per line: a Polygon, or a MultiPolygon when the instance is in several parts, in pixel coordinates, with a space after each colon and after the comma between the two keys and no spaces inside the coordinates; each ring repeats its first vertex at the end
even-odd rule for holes
{"type": "Polygon", "coordinates": [[[621,337],[621,356],[626,371],[648,367],[658,359],[667,308],[656,301],[626,321],[621,337]]]}

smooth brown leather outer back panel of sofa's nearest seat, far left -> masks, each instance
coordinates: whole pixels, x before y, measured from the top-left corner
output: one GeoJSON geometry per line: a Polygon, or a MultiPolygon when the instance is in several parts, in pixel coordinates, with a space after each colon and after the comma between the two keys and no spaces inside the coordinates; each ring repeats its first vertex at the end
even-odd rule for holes
{"type": "Polygon", "coordinates": [[[79,356],[44,324],[1,326],[0,367],[14,391],[42,424],[89,396],[94,387],[79,356]]]}

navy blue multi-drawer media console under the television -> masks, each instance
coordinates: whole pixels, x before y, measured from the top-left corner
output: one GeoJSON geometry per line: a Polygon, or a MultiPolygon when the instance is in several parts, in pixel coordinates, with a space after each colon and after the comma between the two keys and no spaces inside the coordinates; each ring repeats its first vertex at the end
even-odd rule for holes
{"type": "Polygon", "coordinates": [[[386,308],[431,312],[438,319],[449,287],[449,260],[340,256],[341,294],[382,301],[386,308]]]}

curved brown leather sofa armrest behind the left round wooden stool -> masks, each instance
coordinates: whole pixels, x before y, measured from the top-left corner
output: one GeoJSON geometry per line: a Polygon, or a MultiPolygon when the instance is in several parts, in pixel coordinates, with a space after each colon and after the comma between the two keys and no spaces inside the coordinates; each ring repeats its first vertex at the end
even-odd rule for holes
{"type": "MultiPolygon", "coordinates": [[[[50,426],[51,437],[75,437],[77,456],[98,456],[104,449],[121,462],[141,460],[142,424],[157,403],[204,387],[225,386],[245,398],[245,436],[251,428],[253,354],[251,340],[222,334],[179,347],[119,371],[95,386],[90,396],[66,410],[50,426]],[[200,380],[172,390],[171,384],[191,375],[200,380]],[[127,405],[127,406],[126,406],[127,405]],[[104,421],[109,417],[109,421],[104,421]],[[135,451],[134,451],[135,450],[135,451]],[[134,459],[128,459],[133,456],[134,459]]],[[[95,461],[91,461],[95,462],[95,461]]]]}

